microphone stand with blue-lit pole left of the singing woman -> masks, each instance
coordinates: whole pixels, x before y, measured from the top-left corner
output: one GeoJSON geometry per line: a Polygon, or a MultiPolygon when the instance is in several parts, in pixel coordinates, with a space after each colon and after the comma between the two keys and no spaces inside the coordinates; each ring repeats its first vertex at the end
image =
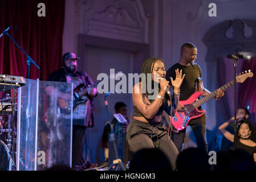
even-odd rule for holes
{"type": "Polygon", "coordinates": [[[123,171],[127,171],[127,169],[125,168],[124,163],[121,161],[121,159],[119,159],[119,156],[117,155],[117,150],[116,150],[116,142],[115,142],[115,134],[113,133],[113,127],[112,127],[112,123],[111,123],[111,119],[109,116],[109,112],[108,112],[108,101],[107,101],[107,96],[110,93],[106,93],[105,94],[105,106],[106,106],[106,110],[107,110],[107,115],[108,115],[108,121],[109,121],[109,127],[110,127],[110,134],[109,134],[109,142],[113,143],[113,147],[114,147],[114,152],[115,152],[115,160],[113,160],[113,163],[111,164],[111,166],[108,168],[108,171],[110,171],[112,168],[115,168],[115,164],[117,164],[116,170],[118,170],[118,168],[121,168],[123,171]]]}

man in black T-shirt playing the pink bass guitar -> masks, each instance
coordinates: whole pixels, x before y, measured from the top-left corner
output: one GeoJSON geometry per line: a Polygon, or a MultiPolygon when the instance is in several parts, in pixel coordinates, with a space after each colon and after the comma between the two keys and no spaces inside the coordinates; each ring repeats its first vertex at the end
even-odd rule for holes
{"type": "MultiPolygon", "coordinates": [[[[181,56],[178,63],[174,64],[166,72],[166,80],[170,83],[170,77],[173,80],[176,78],[175,70],[182,69],[182,73],[185,73],[185,78],[180,87],[180,101],[187,100],[194,92],[201,91],[202,96],[208,96],[211,92],[204,88],[201,81],[201,69],[200,66],[194,63],[197,59],[197,48],[193,43],[185,43],[181,46],[181,56]]],[[[170,88],[170,86],[169,86],[170,88]]],[[[222,90],[218,90],[216,99],[224,96],[222,90]]],[[[178,104],[177,111],[182,110],[182,105],[178,104]]],[[[189,124],[192,127],[194,136],[196,138],[197,147],[203,148],[208,151],[206,142],[206,117],[205,114],[199,118],[192,119],[189,124]]],[[[176,145],[178,151],[182,149],[184,143],[186,129],[178,131],[178,133],[172,131],[172,140],[176,145]]]]}

